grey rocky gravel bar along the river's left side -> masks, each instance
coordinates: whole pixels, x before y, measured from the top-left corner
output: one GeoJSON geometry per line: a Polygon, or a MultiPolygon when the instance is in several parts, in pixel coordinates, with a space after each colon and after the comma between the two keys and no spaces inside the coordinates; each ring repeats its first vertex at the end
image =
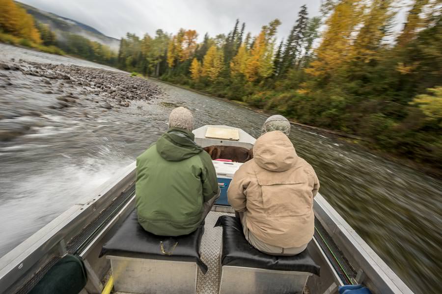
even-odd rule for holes
{"type": "Polygon", "coordinates": [[[99,109],[115,111],[162,95],[155,83],[122,71],[14,58],[1,61],[0,142],[32,133],[33,126],[39,124],[32,118],[47,113],[66,115],[68,109],[75,109],[70,115],[91,119],[99,109]],[[27,95],[23,97],[23,93],[27,95]],[[27,107],[17,107],[17,103],[26,102],[27,107]]]}

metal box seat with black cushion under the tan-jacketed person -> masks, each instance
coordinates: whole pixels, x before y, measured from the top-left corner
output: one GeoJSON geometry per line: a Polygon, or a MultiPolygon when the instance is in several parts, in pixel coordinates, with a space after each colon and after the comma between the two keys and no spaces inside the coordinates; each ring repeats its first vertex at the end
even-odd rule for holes
{"type": "Polygon", "coordinates": [[[238,218],[221,216],[215,226],[222,226],[220,294],[302,293],[308,276],[319,275],[307,250],[265,254],[249,244],[238,218]]]}

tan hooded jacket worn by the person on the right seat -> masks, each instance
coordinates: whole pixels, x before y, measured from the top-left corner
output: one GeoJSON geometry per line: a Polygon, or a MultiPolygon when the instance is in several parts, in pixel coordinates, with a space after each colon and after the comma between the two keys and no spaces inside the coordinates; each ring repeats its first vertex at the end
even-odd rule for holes
{"type": "Polygon", "coordinates": [[[307,244],[314,233],[313,197],[319,190],[315,171],[280,131],[259,137],[253,156],[229,185],[230,205],[245,213],[248,229],[260,241],[283,248],[307,244]]]}

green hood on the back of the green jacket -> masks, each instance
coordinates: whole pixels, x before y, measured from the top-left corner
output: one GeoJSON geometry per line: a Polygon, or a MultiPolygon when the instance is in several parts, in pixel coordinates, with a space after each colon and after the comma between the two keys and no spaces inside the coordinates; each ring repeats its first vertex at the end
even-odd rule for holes
{"type": "Polygon", "coordinates": [[[193,141],[192,132],[170,128],[157,141],[157,152],[168,161],[181,161],[200,153],[203,148],[193,141]]]}

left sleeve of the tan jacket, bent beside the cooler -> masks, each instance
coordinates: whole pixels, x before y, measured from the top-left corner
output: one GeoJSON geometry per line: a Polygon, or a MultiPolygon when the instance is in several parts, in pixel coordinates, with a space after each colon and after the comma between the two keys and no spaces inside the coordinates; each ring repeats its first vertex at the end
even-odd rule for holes
{"type": "Polygon", "coordinates": [[[247,210],[245,192],[250,183],[247,166],[248,165],[243,164],[238,171],[235,172],[233,179],[230,182],[229,189],[227,190],[229,204],[237,212],[244,212],[247,210]]]}

